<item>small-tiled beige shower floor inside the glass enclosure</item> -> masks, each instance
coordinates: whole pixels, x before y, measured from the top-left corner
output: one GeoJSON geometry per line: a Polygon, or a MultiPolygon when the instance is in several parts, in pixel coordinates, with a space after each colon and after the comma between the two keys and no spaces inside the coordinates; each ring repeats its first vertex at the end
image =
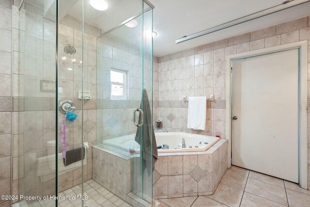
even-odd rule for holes
{"type": "MultiPolygon", "coordinates": [[[[81,194],[81,184],[74,186],[68,190],[59,193],[59,196],[76,196],[81,194]]],[[[84,195],[88,195],[88,199],[84,201],[84,206],[88,207],[131,207],[121,198],[108,191],[93,179],[84,182],[84,195]]],[[[13,207],[54,207],[55,201],[35,201],[27,203],[20,201],[13,207]]],[[[80,200],[60,200],[59,207],[80,207],[80,200]]]]}

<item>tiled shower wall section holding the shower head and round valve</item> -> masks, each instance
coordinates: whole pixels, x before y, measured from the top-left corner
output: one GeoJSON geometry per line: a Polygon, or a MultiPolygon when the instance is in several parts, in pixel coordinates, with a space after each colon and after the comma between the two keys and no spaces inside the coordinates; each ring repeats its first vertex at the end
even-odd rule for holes
{"type": "MultiPolygon", "coordinates": [[[[59,87],[62,87],[62,93],[59,93],[59,100],[71,100],[77,107],[74,113],[78,118],[73,122],[67,122],[66,128],[69,131],[69,143],[67,149],[74,149],[82,146],[82,133],[84,142],[89,143],[87,150],[87,165],[84,165],[84,181],[92,178],[92,146],[96,140],[96,109],[98,108],[97,85],[96,85],[96,58],[97,58],[97,37],[101,34],[101,29],[84,22],[83,34],[83,60],[82,60],[82,32],[81,20],[66,15],[59,24],[59,87]],[[63,48],[66,45],[73,45],[77,52],[74,55],[67,55],[63,48]],[[62,57],[66,57],[63,60],[62,57]],[[75,59],[75,62],[72,61],[75,59]],[[84,68],[82,71],[81,61],[84,68]],[[73,68],[73,70],[67,70],[73,68]],[[82,90],[82,76],[84,91],[90,91],[92,99],[84,100],[83,120],[81,100],[78,99],[78,91],[82,90]],[[83,122],[83,127],[82,127],[83,122]]],[[[58,113],[58,137],[61,137],[61,124],[63,123],[63,114],[58,113]]],[[[61,151],[61,149],[59,149],[61,151]]],[[[71,188],[81,183],[81,167],[70,171],[60,177],[60,191],[71,188]]]]}

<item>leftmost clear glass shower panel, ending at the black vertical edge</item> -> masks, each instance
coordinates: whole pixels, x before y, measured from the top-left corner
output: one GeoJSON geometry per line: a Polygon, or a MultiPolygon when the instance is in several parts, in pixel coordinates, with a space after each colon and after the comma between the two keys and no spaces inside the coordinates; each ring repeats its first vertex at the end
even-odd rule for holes
{"type": "Polygon", "coordinates": [[[20,206],[56,206],[56,0],[26,0],[13,12],[14,194],[48,196],[20,206]]]}

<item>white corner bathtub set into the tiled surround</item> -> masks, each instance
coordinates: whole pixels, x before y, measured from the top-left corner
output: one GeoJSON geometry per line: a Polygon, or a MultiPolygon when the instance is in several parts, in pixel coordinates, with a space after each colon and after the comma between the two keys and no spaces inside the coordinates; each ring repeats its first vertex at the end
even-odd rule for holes
{"type": "MultiPolygon", "coordinates": [[[[104,140],[102,143],[120,148],[127,152],[129,152],[130,145],[135,145],[135,153],[139,154],[140,145],[135,142],[135,136],[136,134],[125,135],[104,140]]],[[[184,132],[158,132],[155,133],[155,137],[157,146],[163,144],[169,145],[169,149],[158,149],[158,153],[206,151],[219,140],[217,137],[184,132]],[[185,139],[186,148],[179,147],[179,145],[182,144],[182,138],[185,139]]]]}

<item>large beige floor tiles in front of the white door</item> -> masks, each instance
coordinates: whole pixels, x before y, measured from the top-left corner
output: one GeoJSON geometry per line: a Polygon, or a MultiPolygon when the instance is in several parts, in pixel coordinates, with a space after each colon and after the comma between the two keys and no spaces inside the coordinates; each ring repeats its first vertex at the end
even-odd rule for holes
{"type": "Polygon", "coordinates": [[[232,166],[213,195],[158,201],[158,207],[310,207],[310,191],[286,180],[232,166]]]}

